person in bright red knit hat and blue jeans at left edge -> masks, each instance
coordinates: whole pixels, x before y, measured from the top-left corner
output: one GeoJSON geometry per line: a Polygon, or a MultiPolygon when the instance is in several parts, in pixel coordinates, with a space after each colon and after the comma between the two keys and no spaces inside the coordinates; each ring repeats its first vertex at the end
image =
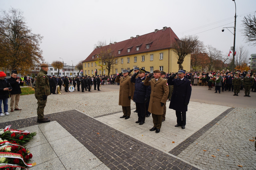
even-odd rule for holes
{"type": "Polygon", "coordinates": [[[8,98],[9,91],[12,91],[12,86],[5,77],[6,74],[0,71],[0,116],[10,115],[8,113],[8,98]],[[2,112],[2,102],[4,103],[4,114],[2,112]]]}

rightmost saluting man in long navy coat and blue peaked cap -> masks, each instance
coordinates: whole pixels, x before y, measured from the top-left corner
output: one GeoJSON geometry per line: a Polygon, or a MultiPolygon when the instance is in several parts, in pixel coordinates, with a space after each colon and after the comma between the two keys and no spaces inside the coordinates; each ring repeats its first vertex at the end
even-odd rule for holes
{"type": "Polygon", "coordinates": [[[188,103],[191,96],[191,83],[190,80],[184,77],[186,70],[180,69],[178,71],[179,78],[174,79],[177,74],[173,74],[168,79],[168,84],[173,85],[173,93],[170,101],[169,108],[176,111],[177,125],[185,129],[186,125],[186,111],[188,111],[188,103]]]}

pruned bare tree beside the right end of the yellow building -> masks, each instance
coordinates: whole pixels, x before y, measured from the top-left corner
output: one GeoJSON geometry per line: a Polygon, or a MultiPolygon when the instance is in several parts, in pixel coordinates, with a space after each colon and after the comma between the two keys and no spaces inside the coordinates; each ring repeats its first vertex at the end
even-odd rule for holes
{"type": "Polygon", "coordinates": [[[175,39],[171,44],[174,53],[177,54],[177,64],[179,65],[179,69],[183,69],[182,63],[184,62],[184,58],[188,55],[193,53],[193,50],[197,44],[197,36],[185,36],[182,37],[180,40],[175,39]]]}

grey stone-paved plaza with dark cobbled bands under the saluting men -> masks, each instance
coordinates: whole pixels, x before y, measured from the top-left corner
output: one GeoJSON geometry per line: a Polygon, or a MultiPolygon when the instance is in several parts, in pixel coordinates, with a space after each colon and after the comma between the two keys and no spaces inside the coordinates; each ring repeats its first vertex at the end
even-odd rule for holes
{"type": "MultiPolygon", "coordinates": [[[[256,94],[248,98],[241,91],[235,98],[232,92],[214,94],[192,87],[186,129],[174,127],[175,111],[168,109],[167,101],[166,120],[155,133],[149,131],[152,116],[143,125],[135,123],[133,112],[129,119],[119,118],[119,86],[101,90],[48,96],[45,115],[51,122],[44,124],[36,122],[35,96],[23,95],[22,110],[0,117],[0,128],[12,125],[37,132],[27,145],[31,162],[37,163],[29,169],[255,169],[250,140],[256,136],[256,94]],[[228,103],[216,101],[216,95],[228,103]],[[201,101],[207,96],[212,102],[201,101]]],[[[131,108],[134,111],[134,102],[131,108]]]]}

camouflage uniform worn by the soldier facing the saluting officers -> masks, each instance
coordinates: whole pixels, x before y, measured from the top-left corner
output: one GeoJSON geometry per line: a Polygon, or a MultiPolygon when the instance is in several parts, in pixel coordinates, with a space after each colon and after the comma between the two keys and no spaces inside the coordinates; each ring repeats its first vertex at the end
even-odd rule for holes
{"type": "Polygon", "coordinates": [[[47,77],[47,71],[40,70],[37,74],[36,79],[36,88],[35,88],[35,97],[37,99],[37,116],[38,119],[44,118],[44,109],[46,106],[46,100],[43,100],[43,95],[50,95],[50,86],[49,86],[49,80],[47,77]]]}

